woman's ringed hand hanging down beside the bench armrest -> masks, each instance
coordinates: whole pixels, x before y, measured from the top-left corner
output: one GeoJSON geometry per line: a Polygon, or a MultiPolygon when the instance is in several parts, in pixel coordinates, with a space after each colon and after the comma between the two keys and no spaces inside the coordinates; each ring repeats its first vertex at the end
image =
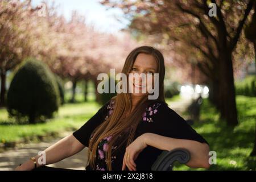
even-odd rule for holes
{"type": "Polygon", "coordinates": [[[147,147],[145,137],[145,134],[139,136],[128,147],[126,147],[125,155],[123,156],[122,171],[125,170],[126,166],[130,171],[136,171],[136,164],[134,160],[136,160],[143,149],[147,147]]]}

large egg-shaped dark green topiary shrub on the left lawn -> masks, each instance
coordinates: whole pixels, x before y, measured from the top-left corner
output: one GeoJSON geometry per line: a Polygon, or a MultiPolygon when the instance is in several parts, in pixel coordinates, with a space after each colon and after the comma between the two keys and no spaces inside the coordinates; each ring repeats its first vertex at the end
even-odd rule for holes
{"type": "Polygon", "coordinates": [[[28,59],[16,72],[7,93],[7,110],[17,122],[37,123],[51,118],[59,107],[55,76],[46,64],[28,59]]]}

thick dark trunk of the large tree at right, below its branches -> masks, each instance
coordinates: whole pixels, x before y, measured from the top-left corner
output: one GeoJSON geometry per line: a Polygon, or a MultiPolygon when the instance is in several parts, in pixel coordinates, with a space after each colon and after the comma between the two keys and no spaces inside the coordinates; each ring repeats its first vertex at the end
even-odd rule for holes
{"type": "Polygon", "coordinates": [[[232,53],[220,52],[220,113],[229,126],[236,126],[237,107],[234,88],[232,53]]]}

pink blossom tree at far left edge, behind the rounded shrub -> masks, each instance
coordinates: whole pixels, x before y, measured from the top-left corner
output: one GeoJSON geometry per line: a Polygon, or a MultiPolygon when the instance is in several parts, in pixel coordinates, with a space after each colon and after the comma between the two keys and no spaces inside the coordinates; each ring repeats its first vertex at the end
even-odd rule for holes
{"type": "Polygon", "coordinates": [[[31,9],[28,1],[0,1],[0,105],[5,105],[7,71],[32,55],[32,32],[36,27],[32,19],[38,10],[31,9]]]}

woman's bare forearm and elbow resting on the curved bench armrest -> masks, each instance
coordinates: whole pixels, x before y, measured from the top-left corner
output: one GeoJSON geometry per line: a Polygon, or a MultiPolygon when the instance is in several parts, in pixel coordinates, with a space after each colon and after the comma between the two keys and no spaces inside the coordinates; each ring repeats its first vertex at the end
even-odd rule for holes
{"type": "Polygon", "coordinates": [[[148,146],[159,148],[160,150],[174,150],[175,148],[185,148],[191,154],[191,160],[186,164],[192,168],[209,168],[209,146],[194,140],[176,139],[163,137],[158,134],[143,134],[144,142],[148,146]]]}

